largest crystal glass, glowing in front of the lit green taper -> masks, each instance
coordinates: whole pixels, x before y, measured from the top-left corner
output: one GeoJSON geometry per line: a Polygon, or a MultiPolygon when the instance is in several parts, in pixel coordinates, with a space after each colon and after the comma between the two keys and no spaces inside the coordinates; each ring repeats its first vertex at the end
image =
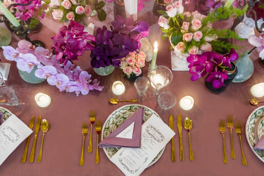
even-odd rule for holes
{"type": "Polygon", "coordinates": [[[156,88],[156,90],[152,89],[149,92],[149,97],[153,101],[157,101],[159,96],[159,89],[171,83],[172,73],[171,70],[165,66],[156,66],[152,70],[150,70],[149,79],[156,88]]]}

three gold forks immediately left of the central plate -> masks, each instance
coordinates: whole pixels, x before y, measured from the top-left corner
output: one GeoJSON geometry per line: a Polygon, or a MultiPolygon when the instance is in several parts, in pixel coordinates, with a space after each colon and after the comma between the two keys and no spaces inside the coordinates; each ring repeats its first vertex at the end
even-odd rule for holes
{"type": "MultiPolygon", "coordinates": [[[[95,120],[95,111],[90,111],[90,119],[89,122],[91,124],[91,134],[90,134],[90,140],[89,140],[89,146],[88,146],[88,152],[92,152],[92,128],[93,123],[95,123],[95,132],[97,134],[97,148],[96,148],[96,157],[95,157],[95,163],[98,164],[100,162],[99,158],[99,150],[98,150],[98,142],[99,142],[99,134],[101,132],[101,120],[95,120]]],[[[82,126],[82,135],[83,135],[83,144],[82,144],[82,154],[80,158],[79,165],[82,166],[84,164],[84,137],[88,134],[88,121],[83,121],[82,126]]]]}

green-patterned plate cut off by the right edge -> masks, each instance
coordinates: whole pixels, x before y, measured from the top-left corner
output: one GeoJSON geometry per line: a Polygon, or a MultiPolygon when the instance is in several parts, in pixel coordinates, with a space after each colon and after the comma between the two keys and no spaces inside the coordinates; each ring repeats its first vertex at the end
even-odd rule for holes
{"type": "Polygon", "coordinates": [[[250,148],[253,150],[254,154],[264,162],[264,151],[263,150],[254,150],[253,147],[259,141],[258,139],[258,127],[260,121],[264,116],[264,106],[258,107],[255,109],[248,117],[246,123],[246,136],[250,148]]]}

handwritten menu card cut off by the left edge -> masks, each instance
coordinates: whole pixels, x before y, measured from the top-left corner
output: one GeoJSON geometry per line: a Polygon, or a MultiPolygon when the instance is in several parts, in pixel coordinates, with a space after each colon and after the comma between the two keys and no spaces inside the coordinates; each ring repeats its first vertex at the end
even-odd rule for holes
{"type": "Polygon", "coordinates": [[[0,125],[0,165],[32,132],[14,114],[0,125]]]}

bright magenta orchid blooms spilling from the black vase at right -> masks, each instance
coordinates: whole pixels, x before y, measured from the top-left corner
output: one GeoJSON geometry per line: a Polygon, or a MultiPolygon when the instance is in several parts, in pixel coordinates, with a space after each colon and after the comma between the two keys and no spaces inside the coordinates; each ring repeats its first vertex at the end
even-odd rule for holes
{"type": "Polygon", "coordinates": [[[215,89],[219,89],[224,85],[224,81],[228,78],[226,69],[232,68],[231,62],[238,59],[238,54],[232,48],[227,55],[218,55],[212,52],[205,52],[202,55],[190,55],[187,62],[190,63],[189,72],[192,74],[191,80],[196,81],[200,77],[204,77],[209,73],[205,81],[212,82],[215,89]]]}

